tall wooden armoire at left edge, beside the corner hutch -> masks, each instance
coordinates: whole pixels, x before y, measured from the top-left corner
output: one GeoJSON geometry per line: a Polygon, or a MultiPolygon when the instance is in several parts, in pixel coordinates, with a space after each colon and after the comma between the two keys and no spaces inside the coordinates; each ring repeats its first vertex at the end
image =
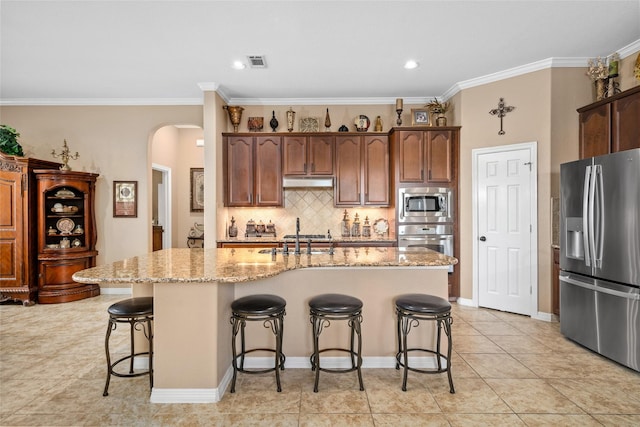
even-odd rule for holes
{"type": "Polygon", "coordinates": [[[0,153],[0,301],[33,305],[38,293],[35,169],[60,163],[0,153]]]}

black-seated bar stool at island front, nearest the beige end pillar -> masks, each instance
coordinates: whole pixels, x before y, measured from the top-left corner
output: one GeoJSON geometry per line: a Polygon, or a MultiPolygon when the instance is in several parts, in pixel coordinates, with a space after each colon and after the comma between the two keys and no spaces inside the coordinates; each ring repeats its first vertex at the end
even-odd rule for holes
{"type": "Polygon", "coordinates": [[[276,385],[278,392],[282,391],[280,386],[280,370],[284,370],[285,355],[282,353],[282,335],[284,330],[284,315],[286,301],[276,295],[248,295],[239,298],[231,303],[231,349],[233,352],[233,379],[231,380],[231,393],[236,392],[236,378],[238,372],[246,374],[261,374],[275,371],[276,385]],[[247,350],[245,347],[245,333],[247,321],[263,321],[264,327],[271,327],[271,331],[276,337],[275,349],[253,348],[247,350]],[[236,349],[236,337],[240,331],[240,353],[236,349]],[[254,351],[268,351],[275,354],[275,364],[272,368],[252,369],[244,368],[245,355],[254,351]],[[240,363],[238,364],[238,359],[240,363]]]}

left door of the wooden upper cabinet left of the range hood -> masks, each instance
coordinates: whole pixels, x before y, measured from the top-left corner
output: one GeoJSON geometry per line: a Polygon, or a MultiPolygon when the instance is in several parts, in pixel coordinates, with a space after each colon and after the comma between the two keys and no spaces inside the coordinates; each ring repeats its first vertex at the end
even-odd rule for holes
{"type": "Polygon", "coordinates": [[[251,137],[227,141],[227,206],[253,205],[253,142],[251,137]]]}

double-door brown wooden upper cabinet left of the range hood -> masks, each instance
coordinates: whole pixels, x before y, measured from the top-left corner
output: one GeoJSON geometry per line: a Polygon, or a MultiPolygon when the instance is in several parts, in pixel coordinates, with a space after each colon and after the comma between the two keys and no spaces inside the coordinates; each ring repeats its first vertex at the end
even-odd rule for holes
{"type": "Polygon", "coordinates": [[[282,206],[282,138],[224,135],[225,206],[282,206]]]}

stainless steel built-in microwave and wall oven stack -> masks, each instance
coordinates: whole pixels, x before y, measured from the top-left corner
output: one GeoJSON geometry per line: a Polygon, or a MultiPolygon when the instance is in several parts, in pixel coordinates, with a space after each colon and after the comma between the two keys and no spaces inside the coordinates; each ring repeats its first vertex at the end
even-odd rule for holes
{"type": "MultiPolygon", "coordinates": [[[[398,189],[398,248],[428,248],[453,256],[453,194],[450,188],[398,189]]],[[[449,267],[453,273],[454,266],[449,267]]]]}

